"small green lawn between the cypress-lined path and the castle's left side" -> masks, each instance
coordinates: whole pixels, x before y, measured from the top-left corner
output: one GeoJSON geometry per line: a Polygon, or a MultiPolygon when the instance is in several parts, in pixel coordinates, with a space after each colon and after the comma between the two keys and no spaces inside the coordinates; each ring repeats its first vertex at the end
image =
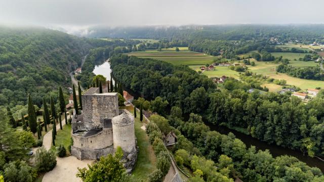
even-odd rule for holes
{"type": "Polygon", "coordinates": [[[52,146],[51,150],[56,151],[56,147],[63,145],[68,153],[68,146],[71,142],[71,125],[64,125],[63,129],[59,129],[57,131],[56,139],[55,139],[55,146],[52,146]]]}

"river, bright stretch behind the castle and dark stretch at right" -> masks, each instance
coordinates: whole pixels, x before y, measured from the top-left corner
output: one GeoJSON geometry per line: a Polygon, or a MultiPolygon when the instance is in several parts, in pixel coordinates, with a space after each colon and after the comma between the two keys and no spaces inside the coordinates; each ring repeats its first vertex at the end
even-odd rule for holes
{"type": "MultiPolygon", "coordinates": [[[[107,78],[107,80],[110,80],[110,64],[108,61],[104,62],[102,65],[98,65],[95,67],[93,70],[93,73],[96,75],[101,74],[107,78]]],[[[291,150],[288,148],[280,147],[277,145],[271,145],[267,144],[266,142],[262,142],[258,139],[253,138],[251,135],[247,135],[238,131],[235,131],[233,129],[229,129],[224,126],[215,126],[206,123],[211,130],[215,130],[220,132],[221,134],[228,134],[229,132],[232,132],[235,134],[237,139],[240,139],[242,142],[244,142],[247,147],[250,147],[251,145],[255,146],[257,150],[266,150],[268,149],[269,152],[272,154],[273,157],[279,156],[279,155],[290,155],[294,156],[300,161],[305,162],[307,165],[311,167],[318,167],[322,172],[324,172],[324,162],[317,159],[317,158],[312,158],[308,157],[307,155],[303,155],[302,152],[291,150]]]]}

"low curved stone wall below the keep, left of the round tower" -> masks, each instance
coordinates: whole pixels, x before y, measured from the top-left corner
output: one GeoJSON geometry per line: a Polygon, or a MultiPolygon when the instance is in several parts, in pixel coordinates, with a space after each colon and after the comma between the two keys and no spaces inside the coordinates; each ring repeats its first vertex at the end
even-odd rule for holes
{"type": "Polygon", "coordinates": [[[88,136],[80,137],[72,134],[73,146],[82,149],[102,149],[113,145],[112,128],[104,128],[99,133],[88,136]]]}

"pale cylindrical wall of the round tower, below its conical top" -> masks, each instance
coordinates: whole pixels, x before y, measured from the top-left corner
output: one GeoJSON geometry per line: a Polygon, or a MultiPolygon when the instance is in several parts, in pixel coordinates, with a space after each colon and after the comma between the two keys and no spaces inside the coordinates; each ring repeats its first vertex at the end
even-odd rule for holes
{"type": "Polygon", "coordinates": [[[135,129],[134,122],[125,126],[117,126],[112,124],[113,129],[113,147],[118,146],[126,152],[132,152],[136,150],[135,145],[135,129]]]}

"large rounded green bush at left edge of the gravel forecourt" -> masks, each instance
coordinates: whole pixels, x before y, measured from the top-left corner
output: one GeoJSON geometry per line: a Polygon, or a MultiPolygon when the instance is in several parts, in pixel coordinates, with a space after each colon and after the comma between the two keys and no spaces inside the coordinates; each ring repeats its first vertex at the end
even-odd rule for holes
{"type": "Polygon", "coordinates": [[[56,156],[54,152],[41,147],[36,151],[35,161],[38,172],[48,172],[55,167],[56,156]]]}

